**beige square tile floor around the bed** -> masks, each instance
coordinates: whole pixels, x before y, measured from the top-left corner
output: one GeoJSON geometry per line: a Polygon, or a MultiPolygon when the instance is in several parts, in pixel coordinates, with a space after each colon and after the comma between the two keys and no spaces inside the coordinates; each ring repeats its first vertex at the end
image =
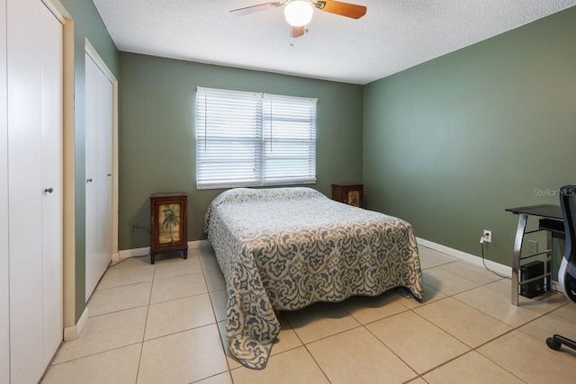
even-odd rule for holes
{"type": "Polygon", "coordinates": [[[510,281],[420,247],[425,299],[394,291],[283,312],[263,371],[225,346],[225,282],[210,246],[187,260],[133,258],[104,274],[80,337],[44,384],[549,383],[576,377],[576,304],[560,294],[510,304],[510,281]]]}

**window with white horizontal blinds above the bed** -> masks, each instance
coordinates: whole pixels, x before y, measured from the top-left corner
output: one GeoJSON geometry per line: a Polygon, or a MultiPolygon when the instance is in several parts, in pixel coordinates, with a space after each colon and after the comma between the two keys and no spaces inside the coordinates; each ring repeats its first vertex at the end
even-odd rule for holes
{"type": "Polygon", "coordinates": [[[315,183],[316,103],[198,87],[196,188],[315,183]]]}

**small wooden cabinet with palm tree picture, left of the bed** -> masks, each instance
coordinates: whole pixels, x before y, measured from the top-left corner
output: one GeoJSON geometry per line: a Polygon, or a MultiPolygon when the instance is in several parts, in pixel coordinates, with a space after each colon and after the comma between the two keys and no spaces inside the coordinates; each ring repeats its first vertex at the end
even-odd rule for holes
{"type": "Polygon", "coordinates": [[[182,251],[188,258],[186,193],[150,195],[150,263],[164,252],[182,251]]]}

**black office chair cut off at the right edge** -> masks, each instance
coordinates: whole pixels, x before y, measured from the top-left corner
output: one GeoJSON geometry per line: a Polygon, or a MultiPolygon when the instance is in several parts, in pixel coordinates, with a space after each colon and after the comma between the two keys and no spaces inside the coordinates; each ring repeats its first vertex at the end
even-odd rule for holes
{"type": "MultiPolygon", "coordinates": [[[[558,282],[568,299],[576,302],[576,185],[566,185],[560,189],[560,206],[564,217],[566,250],[558,271],[558,282]]],[[[559,350],[562,344],[576,350],[576,342],[561,335],[546,339],[546,344],[559,350]]]]}

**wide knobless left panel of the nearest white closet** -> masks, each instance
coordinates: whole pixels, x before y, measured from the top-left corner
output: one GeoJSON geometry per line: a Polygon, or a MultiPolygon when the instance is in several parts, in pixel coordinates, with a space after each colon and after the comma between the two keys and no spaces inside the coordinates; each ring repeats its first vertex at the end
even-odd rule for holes
{"type": "Polygon", "coordinates": [[[8,0],[8,206],[11,382],[42,366],[42,174],[39,0],[8,0]]]}

